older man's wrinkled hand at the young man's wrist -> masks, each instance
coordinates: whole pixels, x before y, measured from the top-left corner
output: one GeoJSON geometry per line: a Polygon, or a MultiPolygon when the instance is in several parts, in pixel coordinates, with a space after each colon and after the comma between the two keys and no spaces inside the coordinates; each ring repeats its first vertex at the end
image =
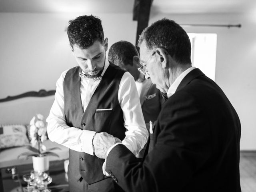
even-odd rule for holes
{"type": "Polygon", "coordinates": [[[92,144],[94,145],[94,152],[98,158],[106,159],[108,149],[116,143],[121,142],[120,139],[106,133],[96,133],[92,144]]]}

